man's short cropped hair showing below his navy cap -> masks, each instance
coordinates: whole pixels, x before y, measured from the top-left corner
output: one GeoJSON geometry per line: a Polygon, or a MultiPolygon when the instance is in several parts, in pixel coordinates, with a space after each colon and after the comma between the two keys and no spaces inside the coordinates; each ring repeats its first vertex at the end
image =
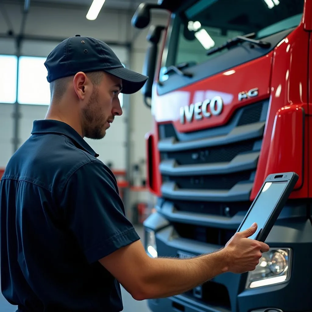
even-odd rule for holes
{"type": "MultiPolygon", "coordinates": [[[[103,74],[104,73],[102,71],[93,71],[90,73],[86,73],[86,76],[91,80],[94,85],[99,85],[102,81],[103,74]]],[[[50,82],[51,98],[53,97],[53,100],[56,101],[61,100],[67,90],[67,85],[72,80],[73,76],[56,79],[50,82]]]]}

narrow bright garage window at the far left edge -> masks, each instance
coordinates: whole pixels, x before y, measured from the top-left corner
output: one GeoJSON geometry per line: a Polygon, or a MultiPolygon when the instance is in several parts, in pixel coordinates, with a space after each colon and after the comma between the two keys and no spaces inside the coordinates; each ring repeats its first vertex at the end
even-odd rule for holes
{"type": "Polygon", "coordinates": [[[0,103],[15,103],[17,88],[17,56],[0,55],[0,103]]]}

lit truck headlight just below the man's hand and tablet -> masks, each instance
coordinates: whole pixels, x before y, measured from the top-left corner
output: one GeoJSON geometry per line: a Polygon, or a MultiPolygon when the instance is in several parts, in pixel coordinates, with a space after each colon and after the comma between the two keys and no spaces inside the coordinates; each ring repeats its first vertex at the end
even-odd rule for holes
{"type": "Polygon", "coordinates": [[[290,248],[272,248],[262,254],[254,271],[248,272],[246,289],[284,283],[290,279],[290,248]]]}

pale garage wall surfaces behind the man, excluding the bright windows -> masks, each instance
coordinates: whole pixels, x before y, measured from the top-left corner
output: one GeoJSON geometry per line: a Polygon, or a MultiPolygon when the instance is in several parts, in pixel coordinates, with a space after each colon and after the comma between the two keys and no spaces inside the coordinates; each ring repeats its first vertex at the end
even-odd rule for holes
{"type": "MultiPolygon", "coordinates": [[[[22,21],[21,6],[8,4],[5,8],[13,24],[14,32],[18,33],[22,21]]],[[[85,18],[86,11],[81,8],[56,8],[31,6],[25,35],[41,37],[71,37],[76,34],[92,36],[103,41],[113,41],[119,44],[132,42],[130,54],[124,46],[111,46],[120,60],[128,64],[129,68],[141,72],[148,46],[146,35],[148,28],[142,31],[134,29],[131,24],[133,12],[103,10],[95,21],[85,18]]],[[[152,14],[152,23],[166,25],[168,14],[152,14]]],[[[0,34],[7,32],[7,25],[0,17],[0,34]]],[[[22,44],[22,55],[47,56],[56,46],[57,41],[24,41],[22,44]]],[[[15,54],[16,46],[11,39],[0,38],[0,54],[15,54]]],[[[1,72],[0,74],[5,75],[1,72]]],[[[1,89],[1,85],[0,85],[1,89]]],[[[3,92],[3,90],[0,90],[3,92]]],[[[34,92],[30,90],[30,92],[34,92]]],[[[5,167],[12,155],[13,119],[14,110],[12,104],[0,104],[0,167],[5,167]]],[[[42,105],[20,105],[21,122],[19,137],[23,143],[30,135],[32,122],[35,119],[44,118],[47,106],[42,105]]],[[[152,127],[150,110],[144,105],[140,92],[130,96],[129,118],[131,124],[131,163],[138,163],[146,158],[144,135],[152,127]]],[[[106,136],[102,140],[88,140],[88,143],[100,154],[104,162],[114,162],[116,169],[125,169],[125,118],[126,114],[115,119],[106,136]]],[[[132,201],[147,199],[148,194],[134,193],[132,201]]]]}

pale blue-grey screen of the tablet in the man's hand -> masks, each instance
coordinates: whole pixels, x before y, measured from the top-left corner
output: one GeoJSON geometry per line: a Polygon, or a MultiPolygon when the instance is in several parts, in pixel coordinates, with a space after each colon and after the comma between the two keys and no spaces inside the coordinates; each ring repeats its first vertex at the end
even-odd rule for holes
{"type": "Polygon", "coordinates": [[[287,181],[267,182],[264,185],[245,222],[242,224],[240,232],[248,229],[251,227],[252,223],[256,222],[258,224],[257,231],[249,237],[251,239],[256,238],[261,228],[265,225],[266,220],[271,215],[271,212],[280,198],[280,195],[283,193],[286,184],[287,181]]]}

